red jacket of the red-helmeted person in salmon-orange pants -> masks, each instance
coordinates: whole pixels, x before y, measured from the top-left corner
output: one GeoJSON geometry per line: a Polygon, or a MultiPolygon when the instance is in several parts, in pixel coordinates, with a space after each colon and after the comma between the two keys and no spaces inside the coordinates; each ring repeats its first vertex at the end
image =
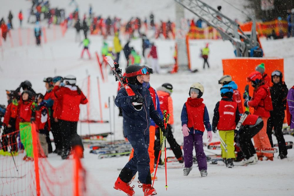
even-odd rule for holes
{"type": "Polygon", "coordinates": [[[253,92],[251,101],[248,102],[248,106],[254,108],[255,115],[260,117],[270,117],[270,111],[273,110],[272,99],[270,96],[270,88],[267,84],[262,84],[253,92]]]}

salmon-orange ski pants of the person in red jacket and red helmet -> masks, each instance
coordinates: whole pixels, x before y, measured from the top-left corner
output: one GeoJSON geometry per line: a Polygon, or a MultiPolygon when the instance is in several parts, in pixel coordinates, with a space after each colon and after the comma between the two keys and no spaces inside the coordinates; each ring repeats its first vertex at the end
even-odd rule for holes
{"type": "MultiPolygon", "coordinates": [[[[268,139],[268,134],[266,133],[268,118],[262,117],[262,119],[263,119],[263,127],[253,137],[254,147],[255,148],[271,148],[270,140],[268,139]]],[[[258,157],[262,157],[262,156],[273,157],[273,154],[271,153],[256,152],[256,154],[258,157]]]]}

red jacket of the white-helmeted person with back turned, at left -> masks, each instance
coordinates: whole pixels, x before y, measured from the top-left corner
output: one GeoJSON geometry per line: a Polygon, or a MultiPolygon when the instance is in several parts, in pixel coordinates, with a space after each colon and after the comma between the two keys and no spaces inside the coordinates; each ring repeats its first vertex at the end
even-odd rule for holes
{"type": "MultiPolygon", "coordinates": [[[[68,86],[68,85],[66,85],[68,86]]],[[[54,96],[57,98],[58,105],[55,110],[57,110],[58,119],[76,122],[79,119],[80,114],[80,104],[86,104],[88,99],[85,97],[83,92],[78,93],[74,90],[74,87],[70,89],[69,87],[54,87],[54,96]]],[[[54,112],[55,112],[54,110],[54,112]]]]}

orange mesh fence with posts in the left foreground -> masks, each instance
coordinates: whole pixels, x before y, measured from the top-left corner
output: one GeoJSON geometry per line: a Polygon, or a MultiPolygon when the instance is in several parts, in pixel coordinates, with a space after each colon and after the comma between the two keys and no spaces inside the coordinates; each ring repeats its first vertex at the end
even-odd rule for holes
{"type": "Polygon", "coordinates": [[[0,195],[79,196],[96,195],[98,190],[107,195],[98,185],[97,179],[94,180],[83,167],[80,160],[83,155],[82,147],[75,147],[69,160],[61,160],[60,157],[46,158],[36,125],[32,123],[29,126],[34,154],[31,160],[23,160],[26,151],[15,148],[19,144],[19,131],[2,134],[1,141],[5,141],[2,142],[4,145],[1,145],[0,155],[0,195]],[[86,182],[91,182],[90,188],[86,182]]]}

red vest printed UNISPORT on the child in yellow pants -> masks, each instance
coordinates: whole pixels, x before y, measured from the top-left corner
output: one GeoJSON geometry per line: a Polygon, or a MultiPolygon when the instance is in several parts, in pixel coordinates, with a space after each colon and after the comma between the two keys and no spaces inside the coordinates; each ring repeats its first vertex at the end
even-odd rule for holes
{"type": "Polygon", "coordinates": [[[236,128],[236,111],[237,103],[221,100],[219,102],[218,113],[219,120],[218,130],[234,130],[236,128]]]}

